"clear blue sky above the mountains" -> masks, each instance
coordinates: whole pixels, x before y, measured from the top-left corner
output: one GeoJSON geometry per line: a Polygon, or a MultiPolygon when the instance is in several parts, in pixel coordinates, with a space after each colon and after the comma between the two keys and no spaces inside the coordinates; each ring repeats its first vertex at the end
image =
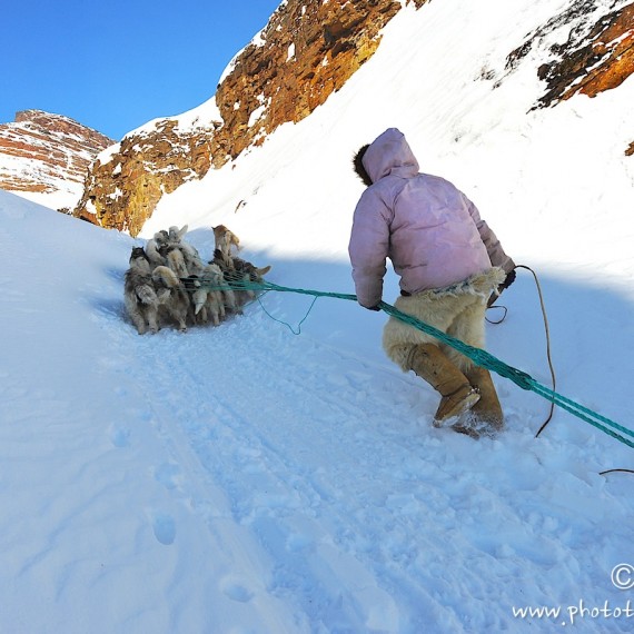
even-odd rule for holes
{"type": "Polygon", "coordinates": [[[115,140],[216,93],[281,0],[8,0],[0,9],[0,123],[30,108],[115,140]]]}

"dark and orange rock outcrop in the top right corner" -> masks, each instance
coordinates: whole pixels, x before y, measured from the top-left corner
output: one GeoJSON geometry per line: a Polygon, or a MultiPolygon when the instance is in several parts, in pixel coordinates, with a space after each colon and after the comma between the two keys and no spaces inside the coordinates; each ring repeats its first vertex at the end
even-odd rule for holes
{"type": "MultiPolygon", "coordinates": [[[[508,57],[507,67],[513,68],[536,42],[566,26],[567,41],[551,47],[553,59],[537,70],[547,86],[537,107],[555,105],[578,92],[595,97],[616,88],[634,72],[634,3],[594,18],[597,7],[605,4],[598,0],[574,2],[508,57]]],[[[612,0],[608,7],[617,4],[622,2],[612,0]]]]}

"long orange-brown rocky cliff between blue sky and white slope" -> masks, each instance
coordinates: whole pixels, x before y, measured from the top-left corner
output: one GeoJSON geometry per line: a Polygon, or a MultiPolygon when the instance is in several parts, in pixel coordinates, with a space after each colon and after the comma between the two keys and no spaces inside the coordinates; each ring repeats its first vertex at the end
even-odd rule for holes
{"type": "MultiPolygon", "coordinates": [[[[417,8],[427,0],[408,0],[417,8]]],[[[299,121],[376,51],[397,0],[289,0],[247,46],[216,92],[219,120],[181,130],[162,120],[99,157],[75,215],[136,236],[164,192],[201,178],[288,121],[299,121]],[[344,9],[345,6],[345,9],[344,9]]]]}

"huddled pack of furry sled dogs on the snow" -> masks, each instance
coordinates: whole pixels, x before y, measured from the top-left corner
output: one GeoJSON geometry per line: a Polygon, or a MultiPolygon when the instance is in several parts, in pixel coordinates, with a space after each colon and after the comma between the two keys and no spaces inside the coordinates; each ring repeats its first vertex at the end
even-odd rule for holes
{"type": "Polygon", "coordinates": [[[126,271],[126,310],[139,335],[157,333],[174,325],[218,326],[229,314],[241,314],[242,306],[255,298],[248,283],[261,283],[270,266],[256,268],[235,255],[238,237],[224,225],[214,227],[214,259],[204,262],[198,250],[186,242],[182,228],[170,227],[133,247],[126,271]]]}

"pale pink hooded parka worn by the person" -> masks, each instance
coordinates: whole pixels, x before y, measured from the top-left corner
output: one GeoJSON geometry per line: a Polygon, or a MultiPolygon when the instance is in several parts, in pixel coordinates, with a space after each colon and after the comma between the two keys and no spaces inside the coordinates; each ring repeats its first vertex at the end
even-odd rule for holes
{"type": "Polygon", "coordinates": [[[493,266],[515,264],[475,205],[437,176],[418,172],[404,135],[389,128],[367,149],[373,185],[355,209],[348,252],[357,298],[372,308],[383,297],[386,258],[408,294],[443,288],[493,266]]]}

